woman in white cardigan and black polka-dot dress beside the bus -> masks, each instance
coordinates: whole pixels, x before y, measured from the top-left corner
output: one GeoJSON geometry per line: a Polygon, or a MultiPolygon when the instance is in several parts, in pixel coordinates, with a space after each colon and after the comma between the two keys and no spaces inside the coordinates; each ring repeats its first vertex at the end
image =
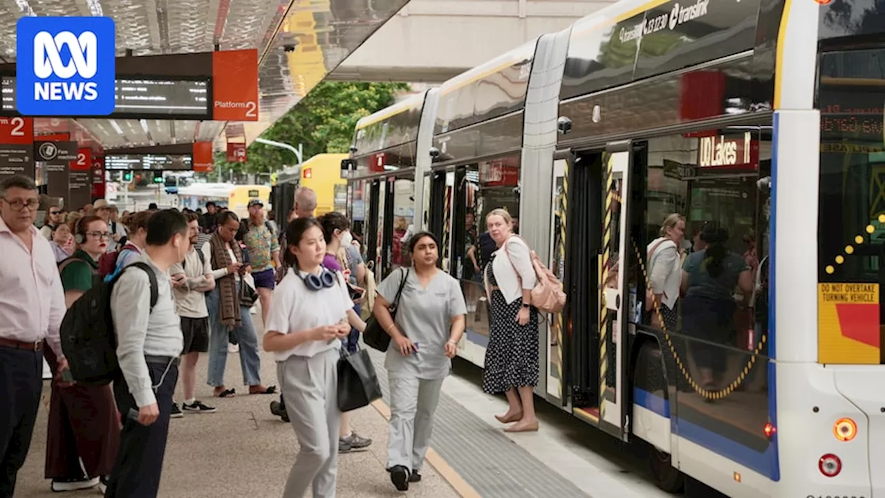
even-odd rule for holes
{"type": "Polygon", "coordinates": [[[492,319],[482,389],[507,395],[510,408],[495,418],[515,424],[504,431],[537,431],[533,391],[538,384],[538,310],[531,301],[537,277],[531,251],[513,234],[513,220],[504,209],[486,215],[486,230],[498,248],[484,275],[492,319]]]}

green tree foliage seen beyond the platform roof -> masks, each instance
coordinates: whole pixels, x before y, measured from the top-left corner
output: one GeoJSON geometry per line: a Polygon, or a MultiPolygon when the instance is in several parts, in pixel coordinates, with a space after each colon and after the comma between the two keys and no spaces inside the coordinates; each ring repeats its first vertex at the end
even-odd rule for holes
{"type": "MultiPolygon", "coordinates": [[[[320,82],[262,137],[294,147],[302,144],[304,160],[323,152],[348,152],[357,121],[393,104],[396,94],[408,89],[407,83],[320,82]]],[[[297,163],[292,152],[257,142],[247,149],[246,159],[245,164],[227,163],[219,154],[215,170],[269,173],[297,163]]]]}

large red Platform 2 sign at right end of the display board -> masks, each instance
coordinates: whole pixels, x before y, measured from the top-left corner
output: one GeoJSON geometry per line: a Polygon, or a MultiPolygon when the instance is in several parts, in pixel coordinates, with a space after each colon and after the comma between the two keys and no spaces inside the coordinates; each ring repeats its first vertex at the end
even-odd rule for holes
{"type": "Polygon", "coordinates": [[[258,121],[258,51],[212,52],[212,119],[258,121]]]}

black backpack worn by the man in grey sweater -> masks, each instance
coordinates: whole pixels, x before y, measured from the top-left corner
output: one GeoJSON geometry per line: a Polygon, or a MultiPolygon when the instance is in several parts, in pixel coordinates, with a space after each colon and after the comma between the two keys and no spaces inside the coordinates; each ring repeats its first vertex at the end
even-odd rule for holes
{"type": "MultiPolygon", "coordinates": [[[[62,261],[64,262],[64,261],[62,261]]],[[[158,284],[153,268],[136,261],[130,267],[141,268],[150,278],[150,310],[157,305],[158,284]]],[[[119,280],[98,282],[67,309],[59,329],[61,348],[73,378],[85,385],[106,385],[119,378],[117,337],[111,310],[111,292],[119,280]]]]}

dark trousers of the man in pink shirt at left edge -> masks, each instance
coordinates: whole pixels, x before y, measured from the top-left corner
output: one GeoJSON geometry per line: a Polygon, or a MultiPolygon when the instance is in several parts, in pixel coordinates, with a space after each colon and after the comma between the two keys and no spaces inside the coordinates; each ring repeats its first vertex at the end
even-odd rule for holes
{"type": "Polygon", "coordinates": [[[31,447],[43,383],[43,354],[0,346],[0,498],[12,498],[31,447]]]}

